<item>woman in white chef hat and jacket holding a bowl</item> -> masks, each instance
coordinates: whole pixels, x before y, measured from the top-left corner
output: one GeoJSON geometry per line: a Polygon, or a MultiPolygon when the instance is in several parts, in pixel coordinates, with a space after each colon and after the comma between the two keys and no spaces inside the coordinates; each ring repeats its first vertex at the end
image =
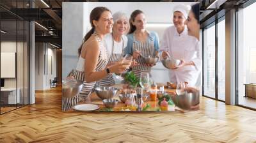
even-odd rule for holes
{"type": "Polygon", "coordinates": [[[187,82],[188,86],[196,86],[201,67],[199,42],[188,35],[184,24],[188,17],[190,6],[179,4],[173,8],[173,26],[168,27],[163,34],[160,50],[162,57],[179,59],[180,63],[170,69],[170,82],[175,87],[180,82],[187,82]]]}

